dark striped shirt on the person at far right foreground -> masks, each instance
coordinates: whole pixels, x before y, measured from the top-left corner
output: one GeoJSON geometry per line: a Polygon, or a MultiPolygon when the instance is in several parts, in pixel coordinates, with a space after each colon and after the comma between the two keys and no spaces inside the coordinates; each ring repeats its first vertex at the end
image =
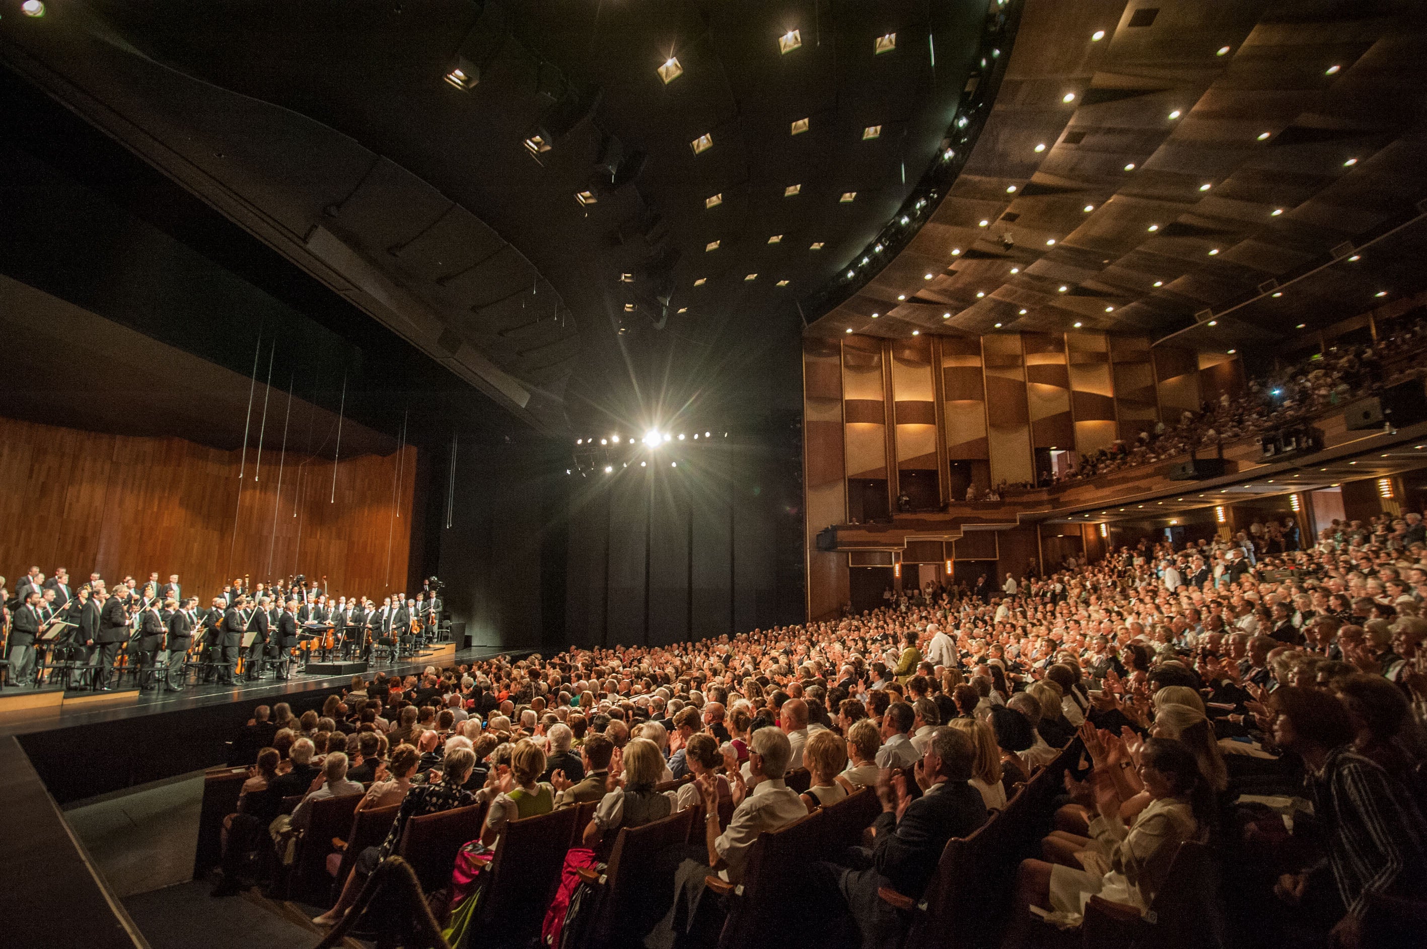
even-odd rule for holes
{"type": "Polygon", "coordinates": [[[1364,893],[1404,893],[1427,882],[1427,825],[1411,796],[1377,763],[1344,745],[1329,752],[1309,786],[1329,865],[1351,915],[1363,915],[1364,893]]]}

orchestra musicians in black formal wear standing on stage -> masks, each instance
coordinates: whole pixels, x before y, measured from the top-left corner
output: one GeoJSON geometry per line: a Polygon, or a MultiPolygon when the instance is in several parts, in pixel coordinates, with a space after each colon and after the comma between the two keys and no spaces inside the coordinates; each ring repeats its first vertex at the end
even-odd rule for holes
{"type": "Polygon", "coordinates": [[[278,681],[308,664],[367,664],[417,658],[438,639],[442,584],[431,577],[412,598],[392,594],[332,598],[327,578],[304,575],[253,585],[234,579],[208,605],[187,597],[177,574],[138,584],[107,584],[98,574],[78,587],[61,567],[39,567],[16,585],[0,577],[4,685],[116,691],[126,674],[140,691],[181,692],[195,684],[278,681]]]}

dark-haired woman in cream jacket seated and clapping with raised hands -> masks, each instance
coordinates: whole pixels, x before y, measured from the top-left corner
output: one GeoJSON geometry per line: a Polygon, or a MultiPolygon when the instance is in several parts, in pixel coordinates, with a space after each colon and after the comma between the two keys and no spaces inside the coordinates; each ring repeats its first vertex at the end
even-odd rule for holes
{"type": "Polygon", "coordinates": [[[1139,776],[1150,803],[1126,825],[1106,769],[1097,768],[1087,782],[1066,775],[1070,796],[1093,815],[1089,829],[1099,851],[1069,856],[1060,848],[1050,848],[1046,856],[1056,862],[1022,861],[1015,898],[1020,909],[1002,943],[1003,949],[1053,942],[1056,930],[1042,923],[1030,906],[1079,915],[1085,893],[1142,912],[1150,906],[1179,845],[1200,835],[1212,795],[1199,773],[1194,753],[1173,739],[1152,738],[1144,742],[1139,776]]]}

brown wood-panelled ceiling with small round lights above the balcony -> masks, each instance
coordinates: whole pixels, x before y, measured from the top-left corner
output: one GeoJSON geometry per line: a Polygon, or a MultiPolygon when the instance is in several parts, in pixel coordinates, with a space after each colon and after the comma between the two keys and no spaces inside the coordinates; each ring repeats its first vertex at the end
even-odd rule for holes
{"type": "Polygon", "coordinates": [[[950,194],[812,331],[1291,345],[1427,287],[1424,93],[1420,0],[1037,3],[950,194]]]}

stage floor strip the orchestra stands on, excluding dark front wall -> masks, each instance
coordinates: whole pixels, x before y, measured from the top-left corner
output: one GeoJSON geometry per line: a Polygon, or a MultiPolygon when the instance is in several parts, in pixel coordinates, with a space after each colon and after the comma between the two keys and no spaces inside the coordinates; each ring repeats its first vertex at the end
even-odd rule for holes
{"type": "MultiPolygon", "coordinates": [[[[472,659],[489,659],[509,649],[475,648],[457,652],[437,652],[415,662],[398,662],[368,668],[362,678],[370,679],[377,672],[388,675],[411,675],[421,672],[428,665],[437,668],[469,662],[472,659]]],[[[514,655],[524,655],[532,649],[514,651],[514,655]]],[[[29,735],[47,732],[56,728],[71,725],[88,725],[96,722],[113,722],[117,719],[141,718],[161,712],[176,712],[183,709],[204,708],[210,705],[231,705],[234,702],[273,701],[281,702],[288,696],[301,696],[308,692],[320,692],[347,685],[351,675],[303,675],[294,674],[287,682],[278,682],[271,676],[260,682],[235,682],[233,685],[188,685],[183,692],[140,692],[137,699],[116,702],[113,705],[100,704],[66,704],[44,708],[33,708],[0,715],[0,736],[29,735]]],[[[0,689],[0,695],[11,696],[37,689],[0,689]]],[[[76,694],[70,694],[76,695],[76,694]]],[[[77,695],[86,695],[83,692],[77,695]]]]}

